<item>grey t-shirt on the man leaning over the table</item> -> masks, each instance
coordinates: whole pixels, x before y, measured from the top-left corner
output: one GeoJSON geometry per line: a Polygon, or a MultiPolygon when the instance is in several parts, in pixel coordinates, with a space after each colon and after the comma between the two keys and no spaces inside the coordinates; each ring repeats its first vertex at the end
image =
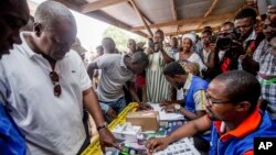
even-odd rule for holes
{"type": "Polygon", "coordinates": [[[123,86],[135,80],[135,75],[129,70],[125,63],[126,55],[105,54],[95,59],[102,77],[97,87],[99,101],[116,101],[124,97],[123,86]]]}

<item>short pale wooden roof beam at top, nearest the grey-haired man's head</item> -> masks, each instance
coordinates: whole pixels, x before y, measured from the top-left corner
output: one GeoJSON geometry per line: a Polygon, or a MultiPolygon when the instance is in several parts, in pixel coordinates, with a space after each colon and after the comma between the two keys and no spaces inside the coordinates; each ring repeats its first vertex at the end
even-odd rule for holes
{"type": "Polygon", "coordinates": [[[127,2],[127,1],[128,0],[98,0],[98,1],[82,5],[79,12],[81,13],[88,13],[88,12],[99,10],[102,8],[106,8],[109,5],[114,5],[114,4],[127,2]]]}

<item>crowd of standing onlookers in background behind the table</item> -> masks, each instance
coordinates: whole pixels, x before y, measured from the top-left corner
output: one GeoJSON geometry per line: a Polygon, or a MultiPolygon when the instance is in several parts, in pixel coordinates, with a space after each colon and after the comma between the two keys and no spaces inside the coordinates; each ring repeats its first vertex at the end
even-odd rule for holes
{"type": "MultiPolygon", "coordinates": [[[[205,26],[200,34],[191,32],[181,37],[171,36],[169,43],[163,42],[163,32],[158,30],[155,37],[149,38],[148,44],[142,48],[138,48],[136,42],[129,38],[126,45],[129,48],[126,52],[127,55],[145,52],[149,58],[149,65],[145,71],[136,77],[139,99],[153,103],[183,99],[183,91],[174,90],[162,75],[166,64],[179,62],[185,70],[206,81],[211,81],[222,73],[235,69],[255,75],[262,84],[259,103],[266,103],[270,114],[275,113],[275,55],[270,45],[275,36],[274,11],[275,8],[269,7],[267,14],[258,14],[256,8],[245,8],[233,21],[223,23],[219,31],[205,26]]],[[[108,37],[108,40],[112,38],[108,37]]],[[[116,52],[112,52],[114,53],[116,52]]],[[[104,48],[98,52],[97,48],[97,57],[105,54],[110,53],[104,48]]],[[[89,76],[97,77],[94,80],[97,86],[100,78],[98,74],[89,76]]],[[[124,85],[124,91],[127,102],[134,101],[127,92],[127,84],[124,85]]]]}

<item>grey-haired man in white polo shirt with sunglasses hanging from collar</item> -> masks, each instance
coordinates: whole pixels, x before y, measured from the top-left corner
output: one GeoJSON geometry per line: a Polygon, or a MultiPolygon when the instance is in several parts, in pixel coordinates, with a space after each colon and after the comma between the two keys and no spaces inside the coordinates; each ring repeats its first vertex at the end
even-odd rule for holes
{"type": "Polygon", "coordinates": [[[83,107],[96,122],[103,151],[105,146],[119,148],[79,55],[70,51],[76,37],[73,14],[59,2],[45,1],[35,11],[33,30],[20,33],[22,45],[14,45],[11,56],[2,58],[13,92],[9,112],[30,153],[82,153],[87,146],[83,107]]]}

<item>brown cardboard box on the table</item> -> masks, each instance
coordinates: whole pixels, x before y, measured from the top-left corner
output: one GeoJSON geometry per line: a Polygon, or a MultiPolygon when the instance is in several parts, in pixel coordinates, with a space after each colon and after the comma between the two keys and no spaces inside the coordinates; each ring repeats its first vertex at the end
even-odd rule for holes
{"type": "Polygon", "coordinates": [[[127,122],[132,125],[141,126],[142,131],[159,130],[159,112],[158,111],[138,111],[127,114],[127,122]]]}

